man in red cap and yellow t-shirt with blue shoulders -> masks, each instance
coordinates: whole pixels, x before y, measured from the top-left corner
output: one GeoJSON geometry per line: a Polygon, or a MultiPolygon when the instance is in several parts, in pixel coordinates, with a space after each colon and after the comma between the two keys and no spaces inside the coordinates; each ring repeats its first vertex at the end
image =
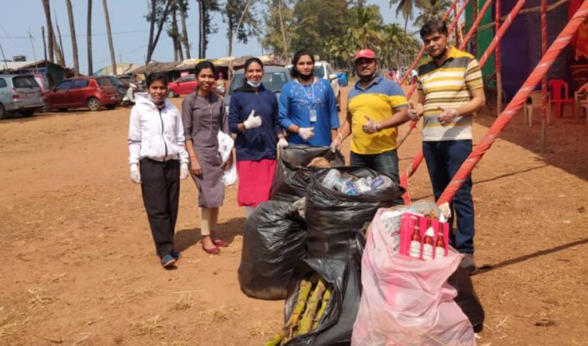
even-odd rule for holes
{"type": "Polygon", "coordinates": [[[376,73],[374,51],[358,51],[355,68],[360,80],[347,95],[347,117],[331,147],[340,149],[351,134],[351,165],[387,174],[398,183],[396,136],[397,127],[409,120],[406,97],[398,84],[376,73]]]}

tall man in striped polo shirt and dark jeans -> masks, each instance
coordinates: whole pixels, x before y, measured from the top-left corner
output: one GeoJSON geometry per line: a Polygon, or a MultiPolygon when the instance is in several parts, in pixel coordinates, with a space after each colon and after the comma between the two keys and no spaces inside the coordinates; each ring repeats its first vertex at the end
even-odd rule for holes
{"type": "MultiPolygon", "coordinates": [[[[412,120],[423,116],[423,154],[435,199],[472,152],[472,114],[486,103],[478,62],[472,55],[448,46],[444,21],[434,19],[421,28],[421,38],[430,56],[419,66],[419,102],[412,120]]],[[[474,262],[474,203],[472,179],[468,177],[452,200],[457,229],[450,234],[452,246],[464,259],[470,273],[474,262]]],[[[450,224],[453,219],[450,219],[450,224]]]]}

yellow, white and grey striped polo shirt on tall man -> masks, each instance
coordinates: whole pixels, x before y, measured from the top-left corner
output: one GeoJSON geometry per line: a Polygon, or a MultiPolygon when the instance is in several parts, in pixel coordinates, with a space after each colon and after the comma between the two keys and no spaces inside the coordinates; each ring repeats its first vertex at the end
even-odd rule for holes
{"type": "Polygon", "coordinates": [[[449,47],[449,58],[437,66],[430,57],[419,66],[419,91],[425,95],[423,141],[472,139],[472,116],[459,116],[443,127],[439,107],[457,108],[470,102],[471,90],[484,87],[478,62],[471,54],[449,47]]]}

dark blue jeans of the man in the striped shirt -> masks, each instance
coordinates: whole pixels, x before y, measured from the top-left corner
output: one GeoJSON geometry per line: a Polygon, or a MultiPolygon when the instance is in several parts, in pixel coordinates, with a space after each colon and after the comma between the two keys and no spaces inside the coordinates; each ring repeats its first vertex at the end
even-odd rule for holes
{"type": "MultiPolygon", "coordinates": [[[[471,152],[471,140],[423,142],[423,154],[427,161],[435,200],[441,197],[441,193],[471,152]]],[[[453,219],[457,216],[457,229],[450,232],[450,243],[460,253],[474,253],[474,202],[470,176],[463,181],[463,185],[453,197],[451,210],[449,225],[453,228],[453,219]]]]}

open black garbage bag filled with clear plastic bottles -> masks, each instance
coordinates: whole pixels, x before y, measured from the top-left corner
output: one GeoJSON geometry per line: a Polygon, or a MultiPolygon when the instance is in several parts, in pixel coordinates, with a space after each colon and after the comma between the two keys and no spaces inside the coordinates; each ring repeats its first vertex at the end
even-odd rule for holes
{"type": "MultiPolygon", "coordinates": [[[[364,167],[338,168],[341,173],[375,178],[378,172],[364,167]]],[[[389,188],[349,195],[325,188],[317,180],[306,194],[304,218],[309,233],[307,257],[347,258],[358,252],[356,233],[376,215],[378,208],[388,208],[404,193],[392,183],[389,188]]]]}

